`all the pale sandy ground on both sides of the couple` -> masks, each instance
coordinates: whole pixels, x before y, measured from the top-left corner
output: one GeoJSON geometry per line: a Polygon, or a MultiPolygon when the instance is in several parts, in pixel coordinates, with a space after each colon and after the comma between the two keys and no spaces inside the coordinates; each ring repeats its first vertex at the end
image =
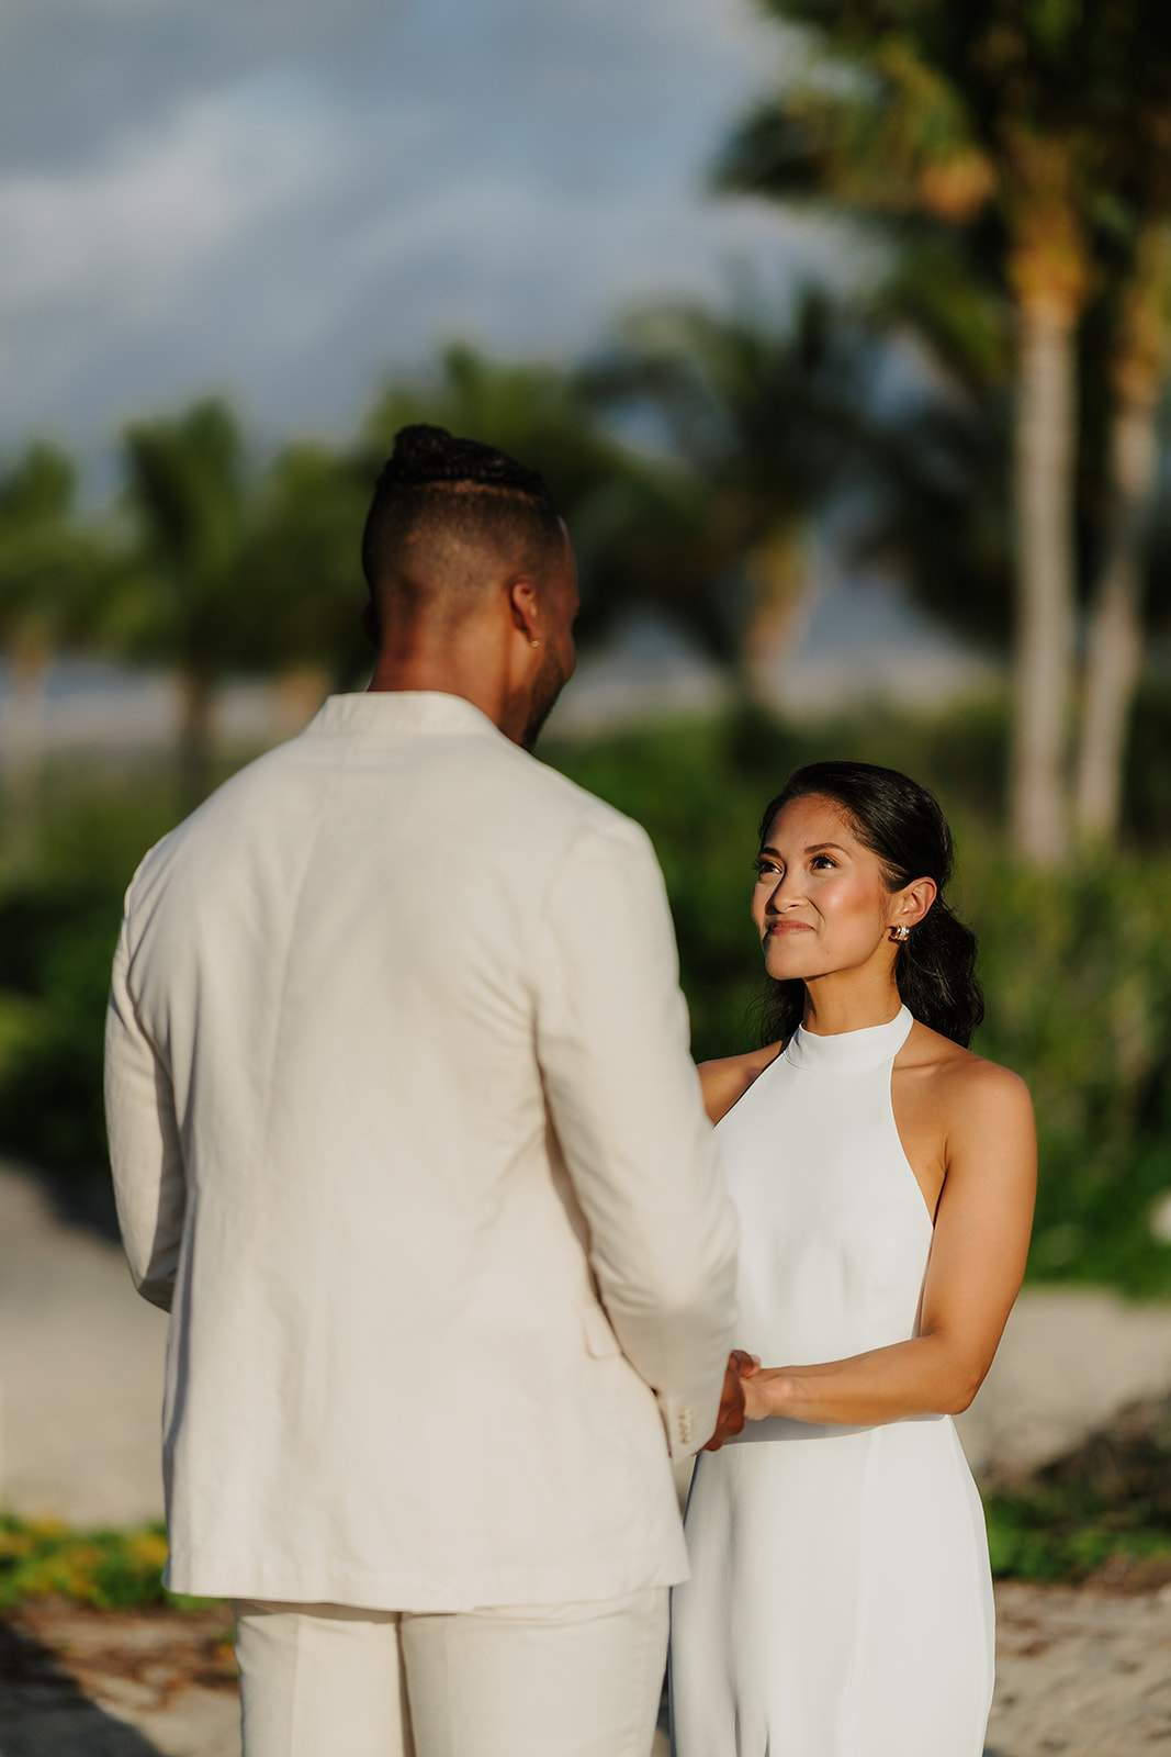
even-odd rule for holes
{"type": "MultiPolygon", "coordinates": [[[[163,1335],[119,1249],[0,1167],[0,1506],[77,1525],[160,1513],[163,1335]]],[[[978,1476],[1009,1474],[1167,1390],[1171,1309],[1034,1290],[962,1437],[978,1476]]],[[[1006,1583],[997,1602],[988,1757],[1171,1753],[1171,1588],[1006,1583]]],[[[239,1757],[226,1622],[33,1606],[0,1623],[0,1757],[239,1757]]]]}

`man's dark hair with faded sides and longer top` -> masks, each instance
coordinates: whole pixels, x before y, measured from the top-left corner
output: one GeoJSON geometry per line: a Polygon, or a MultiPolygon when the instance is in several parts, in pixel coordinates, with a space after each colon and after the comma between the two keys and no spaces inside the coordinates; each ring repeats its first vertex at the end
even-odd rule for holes
{"type": "Polygon", "coordinates": [[[379,618],[453,622],[504,568],[539,582],[565,553],[544,478],[506,452],[442,427],[402,427],[362,536],[379,618]]]}

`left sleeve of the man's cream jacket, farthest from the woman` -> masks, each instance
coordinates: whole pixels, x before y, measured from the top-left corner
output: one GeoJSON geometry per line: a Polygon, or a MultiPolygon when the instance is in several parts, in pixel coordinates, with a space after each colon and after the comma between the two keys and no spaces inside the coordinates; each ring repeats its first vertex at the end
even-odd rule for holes
{"type": "Polygon", "coordinates": [[[105,1128],[118,1225],[133,1284],[170,1311],[183,1242],[186,1181],[170,1077],[130,993],[123,921],[105,1014],[105,1128]]]}

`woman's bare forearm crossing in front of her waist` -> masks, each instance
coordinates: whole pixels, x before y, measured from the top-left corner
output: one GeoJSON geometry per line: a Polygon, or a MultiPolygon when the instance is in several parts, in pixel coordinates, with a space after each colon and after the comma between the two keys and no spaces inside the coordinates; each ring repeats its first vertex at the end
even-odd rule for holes
{"type": "Polygon", "coordinates": [[[948,1337],[920,1335],[816,1367],[764,1367],[744,1383],[746,1413],[843,1427],[959,1414],[985,1370],[948,1337]]]}

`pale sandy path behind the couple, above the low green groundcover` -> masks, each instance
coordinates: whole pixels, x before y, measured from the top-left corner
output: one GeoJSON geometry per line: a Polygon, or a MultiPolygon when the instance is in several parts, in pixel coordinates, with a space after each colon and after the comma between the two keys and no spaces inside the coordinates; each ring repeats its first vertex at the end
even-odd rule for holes
{"type": "MultiPolygon", "coordinates": [[[[0,1506],[75,1525],[160,1515],[165,1330],[118,1246],[61,1221],[32,1177],[0,1165],[0,1506]]],[[[1060,1457],[1167,1390],[1171,1307],[1036,1288],[959,1427],[987,1478],[1060,1457]]]]}

